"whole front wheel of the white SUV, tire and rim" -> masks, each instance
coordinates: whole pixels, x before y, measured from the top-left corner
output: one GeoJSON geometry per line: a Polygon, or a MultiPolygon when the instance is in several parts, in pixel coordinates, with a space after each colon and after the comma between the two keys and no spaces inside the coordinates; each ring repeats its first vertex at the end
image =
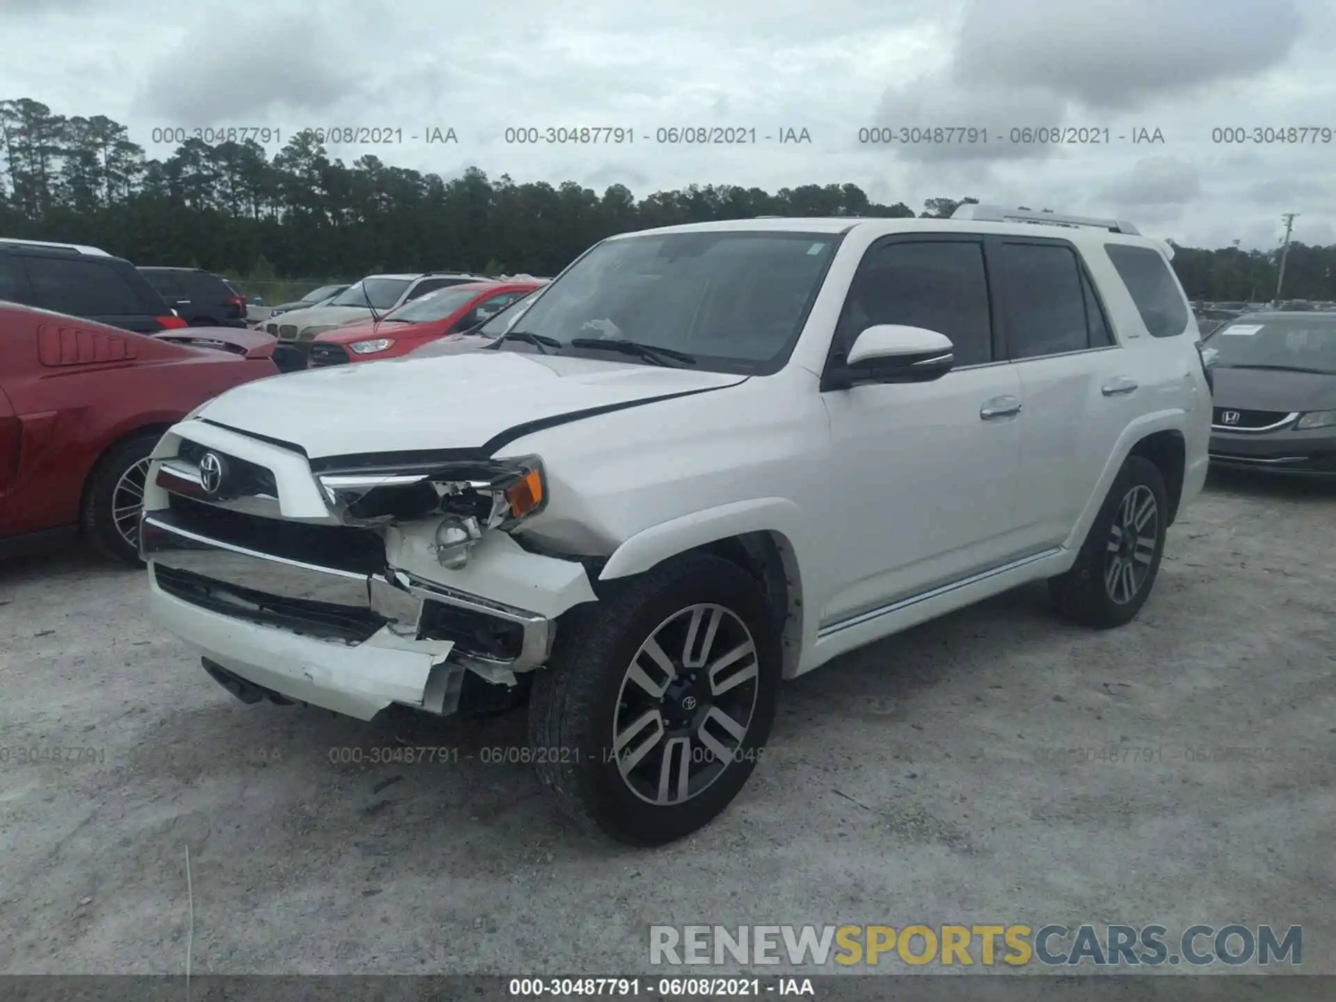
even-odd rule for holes
{"type": "Polygon", "coordinates": [[[764,754],[779,623],[760,582],[705,553],[613,581],[562,619],[529,741],[562,810],[635,846],[708,824],[764,754]]]}

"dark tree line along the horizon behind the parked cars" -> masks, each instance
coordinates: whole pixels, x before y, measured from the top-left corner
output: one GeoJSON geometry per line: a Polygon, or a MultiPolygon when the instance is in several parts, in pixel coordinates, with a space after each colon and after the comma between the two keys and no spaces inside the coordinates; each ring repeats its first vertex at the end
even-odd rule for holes
{"type": "MultiPolygon", "coordinates": [[[[921,215],[942,219],[975,202],[930,198],[921,215]]],[[[872,202],[856,184],[770,192],[700,183],[637,200],[624,184],[599,194],[574,182],[489,179],[474,167],[441,178],[373,155],[346,164],[310,134],[273,155],[251,140],[190,140],[147,160],[103,115],[67,119],[28,98],[0,102],[0,232],[94,243],[143,265],[198,261],[257,282],[417,269],[552,275],[612,234],[759,215],[915,212],[872,202]]],[[[1180,246],[1173,265],[1194,299],[1256,301],[1275,294],[1279,255],[1237,242],[1180,246]]],[[[1336,247],[1296,240],[1284,295],[1336,298],[1333,267],[1336,247]]]]}

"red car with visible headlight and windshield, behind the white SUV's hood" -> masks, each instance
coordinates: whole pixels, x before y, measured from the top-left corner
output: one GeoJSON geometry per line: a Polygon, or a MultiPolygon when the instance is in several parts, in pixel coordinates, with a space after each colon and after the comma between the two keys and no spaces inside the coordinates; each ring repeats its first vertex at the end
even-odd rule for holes
{"type": "Polygon", "coordinates": [[[406,355],[429,341],[482,323],[542,282],[470,282],[428,293],[378,321],[358,321],[317,334],[307,367],[374,362],[406,355]]]}

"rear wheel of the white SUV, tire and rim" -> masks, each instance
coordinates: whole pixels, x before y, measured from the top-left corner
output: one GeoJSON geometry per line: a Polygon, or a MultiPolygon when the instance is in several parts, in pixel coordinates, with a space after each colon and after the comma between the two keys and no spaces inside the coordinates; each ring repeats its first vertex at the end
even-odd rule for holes
{"type": "Polygon", "coordinates": [[[1146,604],[1164,556],[1169,502],[1160,468],[1129,456],[1109,488],[1077,562],[1049,578],[1063,619],[1096,629],[1130,623],[1146,604]]]}

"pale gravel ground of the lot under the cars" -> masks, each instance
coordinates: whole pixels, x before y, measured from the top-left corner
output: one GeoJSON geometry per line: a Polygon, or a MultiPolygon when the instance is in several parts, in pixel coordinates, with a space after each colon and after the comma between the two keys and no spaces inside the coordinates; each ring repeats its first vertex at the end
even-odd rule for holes
{"type": "Polygon", "coordinates": [[[786,684],[656,851],[554,812],[522,713],[247,707],[144,591],[0,565],[0,971],[179,974],[191,900],[195,974],[648,973],[693,922],[1303,925],[1336,971],[1336,486],[1213,477],[1122,629],[1023,588],[786,684]]]}

